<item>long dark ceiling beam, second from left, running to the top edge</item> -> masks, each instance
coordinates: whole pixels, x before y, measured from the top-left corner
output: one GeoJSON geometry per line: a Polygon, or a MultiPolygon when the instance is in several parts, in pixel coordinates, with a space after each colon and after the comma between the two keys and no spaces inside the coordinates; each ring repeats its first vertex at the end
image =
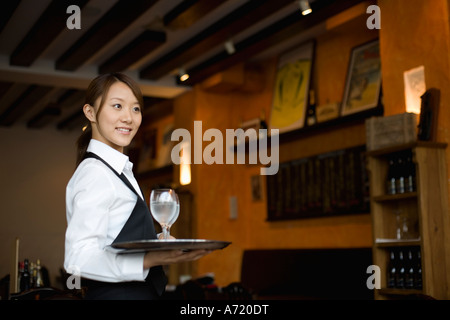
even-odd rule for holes
{"type": "Polygon", "coordinates": [[[152,7],[156,0],[119,0],[56,60],[57,70],[74,71],[152,7]]]}

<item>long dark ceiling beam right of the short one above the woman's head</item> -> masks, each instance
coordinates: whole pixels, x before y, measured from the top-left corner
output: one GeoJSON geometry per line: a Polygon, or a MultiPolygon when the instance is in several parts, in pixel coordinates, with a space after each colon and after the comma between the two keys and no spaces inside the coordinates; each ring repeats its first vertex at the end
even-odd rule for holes
{"type": "Polygon", "coordinates": [[[292,4],[292,0],[246,2],[168,54],[143,68],[139,76],[142,79],[160,79],[189,61],[198,58],[211,48],[225,43],[234,34],[242,32],[288,4],[292,4]]]}

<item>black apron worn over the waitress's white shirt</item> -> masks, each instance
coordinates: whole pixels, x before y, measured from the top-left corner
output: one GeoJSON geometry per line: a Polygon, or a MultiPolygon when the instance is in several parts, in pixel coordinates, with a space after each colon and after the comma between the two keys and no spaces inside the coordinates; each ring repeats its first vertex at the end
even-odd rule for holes
{"type": "MultiPolygon", "coordinates": [[[[125,241],[137,241],[156,239],[156,231],[153,225],[153,219],[150,210],[142,200],[141,196],[136,192],[125,175],[118,174],[105,160],[92,152],[87,152],[84,159],[95,158],[102,161],[125,183],[137,196],[136,205],[130,214],[127,222],[122,230],[114,239],[113,243],[125,241]]],[[[152,267],[149,270],[145,282],[102,282],[90,279],[82,279],[82,285],[86,287],[85,299],[132,299],[132,300],[148,300],[158,299],[164,292],[167,284],[167,278],[164,274],[162,266],[152,267]]]]}

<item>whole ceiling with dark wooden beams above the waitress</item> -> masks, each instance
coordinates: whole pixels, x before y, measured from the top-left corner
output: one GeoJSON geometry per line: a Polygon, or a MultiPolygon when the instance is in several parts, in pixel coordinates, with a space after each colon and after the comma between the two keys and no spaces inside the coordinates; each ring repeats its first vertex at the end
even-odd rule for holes
{"type": "Polygon", "coordinates": [[[1,1],[0,126],[79,129],[84,89],[112,71],[137,80],[151,110],[217,72],[306,40],[359,2],[310,0],[313,12],[302,16],[294,0],[1,1]],[[70,5],[80,8],[80,29],[67,26],[70,5]]]}

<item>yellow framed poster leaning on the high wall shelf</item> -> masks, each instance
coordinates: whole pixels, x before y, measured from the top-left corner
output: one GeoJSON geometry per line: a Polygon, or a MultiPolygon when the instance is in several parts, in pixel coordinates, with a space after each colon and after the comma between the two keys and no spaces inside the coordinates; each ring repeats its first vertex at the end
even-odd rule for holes
{"type": "Polygon", "coordinates": [[[310,41],[281,55],[270,115],[271,129],[282,133],[305,125],[314,47],[315,43],[310,41]]]}

